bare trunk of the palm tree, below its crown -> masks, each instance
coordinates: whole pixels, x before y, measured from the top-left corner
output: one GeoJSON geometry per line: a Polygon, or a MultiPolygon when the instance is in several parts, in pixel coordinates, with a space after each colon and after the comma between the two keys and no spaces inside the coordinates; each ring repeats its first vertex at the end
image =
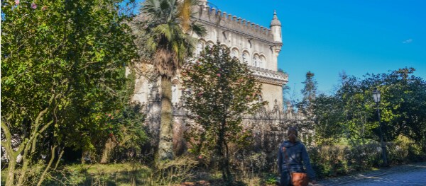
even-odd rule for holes
{"type": "Polygon", "coordinates": [[[160,161],[173,159],[172,81],[167,77],[161,77],[161,119],[158,158],[160,161]]]}

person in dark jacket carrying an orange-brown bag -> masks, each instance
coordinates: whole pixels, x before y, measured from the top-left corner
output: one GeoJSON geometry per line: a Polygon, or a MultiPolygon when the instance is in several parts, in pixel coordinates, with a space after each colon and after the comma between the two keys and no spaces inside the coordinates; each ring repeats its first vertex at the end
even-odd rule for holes
{"type": "Polygon", "coordinates": [[[288,140],[284,141],[278,150],[278,171],[281,175],[280,186],[307,185],[308,180],[306,177],[309,178],[312,184],[317,184],[315,172],[312,170],[305,145],[297,140],[297,129],[289,127],[287,137],[288,140]]]}

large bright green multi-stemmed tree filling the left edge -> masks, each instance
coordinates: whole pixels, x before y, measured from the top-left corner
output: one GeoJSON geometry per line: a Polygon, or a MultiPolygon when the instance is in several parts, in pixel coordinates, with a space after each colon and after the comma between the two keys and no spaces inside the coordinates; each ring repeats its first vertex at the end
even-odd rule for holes
{"type": "Polygon", "coordinates": [[[120,5],[116,0],[1,1],[6,185],[28,184],[26,171],[41,154],[48,160],[38,185],[64,146],[93,148],[92,137],[101,127],[90,117],[116,109],[124,65],[136,56],[120,5]]]}

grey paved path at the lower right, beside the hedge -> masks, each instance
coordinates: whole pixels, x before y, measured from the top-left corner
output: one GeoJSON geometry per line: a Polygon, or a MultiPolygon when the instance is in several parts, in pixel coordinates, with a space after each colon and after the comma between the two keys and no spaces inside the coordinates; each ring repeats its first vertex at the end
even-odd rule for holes
{"type": "Polygon", "coordinates": [[[319,183],[324,186],[426,186],[426,163],[402,165],[357,175],[330,178],[319,183]]]}

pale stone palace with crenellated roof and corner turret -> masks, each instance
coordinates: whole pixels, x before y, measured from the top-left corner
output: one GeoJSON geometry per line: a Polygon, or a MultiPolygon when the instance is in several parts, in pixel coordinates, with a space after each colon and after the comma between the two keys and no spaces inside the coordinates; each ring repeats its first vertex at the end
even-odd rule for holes
{"type": "MultiPolygon", "coordinates": [[[[231,55],[241,62],[249,64],[258,82],[262,84],[263,100],[268,105],[255,115],[246,116],[244,124],[255,127],[257,146],[261,149],[275,149],[283,139],[283,132],[288,124],[303,120],[303,117],[288,109],[283,112],[283,86],[288,82],[288,75],[278,71],[278,54],[282,42],[281,23],[275,11],[271,12],[269,28],[251,23],[244,18],[222,12],[209,7],[207,1],[202,1],[196,7],[197,21],[207,29],[207,35],[197,37],[198,43],[195,52],[197,57],[207,45],[214,45],[219,41],[222,45],[231,48],[231,55]],[[269,146],[269,147],[267,147],[269,146]]],[[[151,135],[158,136],[160,126],[160,79],[139,76],[136,79],[133,100],[143,105],[146,113],[146,124],[151,135]]],[[[175,153],[184,152],[185,141],[182,132],[185,129],[185,109],[182,107],[182,81],[179,74],[173,79],[173,146],[175,153]]],[[[287,103],[288,107],[290,103],[287,103]]],[[[155,138],[156,139],[156,138],[155,138]]],[[[272,156],[275,156],[273,154],[272,156]]]]}

